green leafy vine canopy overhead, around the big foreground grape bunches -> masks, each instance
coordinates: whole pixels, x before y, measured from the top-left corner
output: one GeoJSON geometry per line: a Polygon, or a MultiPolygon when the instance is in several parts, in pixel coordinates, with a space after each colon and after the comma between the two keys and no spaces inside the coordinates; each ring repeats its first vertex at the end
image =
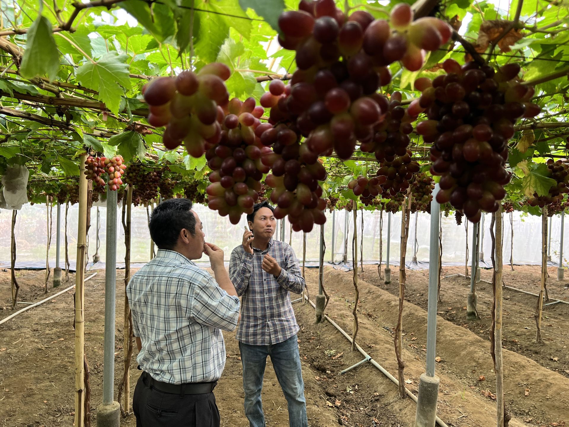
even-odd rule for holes
{"type": "MultiPolygon", "coordinates": [[[[491,2],[470,0],[409,4],[415,19],[439,18],[452,34],[440,47],[423,51],[424,62],[418,67],[409,65],[409,58],[385,65],[391,79],[377,93],[391,101],[395,99],[391,95],[399,92],[399,104],[408,108],[421,96],[419,88],[426,88],[425,78],[435,81],[447,75],[443,63],[450,64],[449,59],[460,65],[475,61],[477,67],[489,65],[496,71],[506,64],[519,65],[514,80],[534,88],[523,101],[539,105],[541,112],[514,120],[514,134],[506,142],[504,167],[511,177],[505,190],[514,207],[538,214],[538,207],[530,206],[537,202],[527,203],[528,198],[547,199],[556,190],[564,192],[559,184],[563,171],[555,178],[556,170],[547,161],[568,157],[566,3],[512,0],[502,1],[499,9],[491,2]]],[[[388,21],[397,5],[395,1],[336,2],[345,16],[365,11],[388,21]]],[[[253,97],[258,105],[269,81],[289,80],[298,68],[296,52],[286,46],[279,28],[281,13],[298,9],[296,0],[2,2],[0,174],[7,166],[25,165],[33,183],[31,201],[45,202],[45,194],[55,195],[76,182],[79,155],[88,149],[95,156],[121,155],[129,165],[140,163],[145,173],[156,172],[156,179],[167,178],[169,184],[160,187],[160,194],[184,195],[185,190],[185,195],[204,202],[211,173],[208,159],[205,154],[193,157],[183,144],[173,150],[164,146],[164,128],[149,123],[142,88],[158,76],[176,76],[184,70],[199,73],[207,64],[222,63],[230,71],[225,80],[229,98],[253,97]]],[[[390,26],[396,27],[394,22],[390,26]]],[[[417,125],[427,120],[427,113],[423,108],[412,116],[408,147],[422,173],[413,190],[419,193],[415,204],[422,210],[428,205],[424,187],[430,187],[425,177],[431,175],[437,157],[431,150],[435,141],[418,132],[417,125]]],[[[266,109],[260,121],[266,123],[268,118],[266,109]]],[[[330,202],[342,207],[356,199],[361,192],[354,195],[355,184],[349,188],[348,183],[360,175],[372,178],[385,166],[373,152],[360,149],[360,142],[348,157],[336,151],[318,153],[327,171],[321,197],[328,199],[328,207],[330,202]]],[[[361,191],[367,189],[362,200],[369,209],[401,199],[400,192],[384,188],[373,203],[376,190],[370,194],[369,184],[362,184],[361,191]]],[[[375,186],[373,181],[371,187],[375,186]]],[[[270,191],[262,187],[259,195],[265,190],[270,191]]],[[[140,197],[145,203],[145,195],[140,197]]]]}

